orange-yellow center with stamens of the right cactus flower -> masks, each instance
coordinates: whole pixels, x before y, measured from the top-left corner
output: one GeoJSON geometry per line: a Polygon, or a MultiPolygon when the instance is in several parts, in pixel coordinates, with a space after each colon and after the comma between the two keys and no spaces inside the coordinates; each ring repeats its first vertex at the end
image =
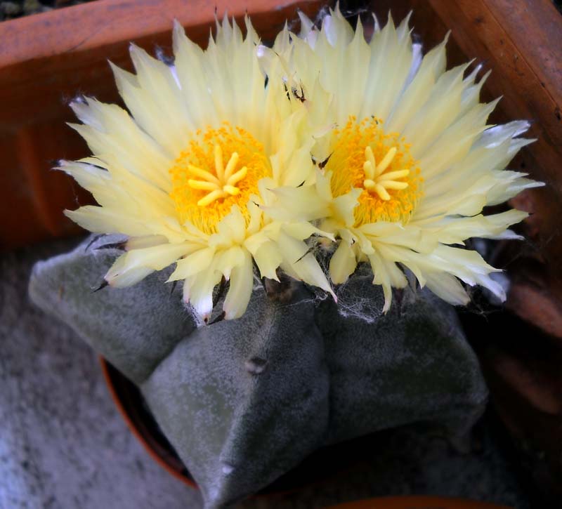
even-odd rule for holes
{"type": "Polygon", "coordinates": [[[385,133],[382,124],[380,119],[358,123],[352,117],[343,129],[334,131],[325,168],[332,171],[334,197],[354,187],[363,190],[354,211],[355,226],[407,223],[421,196],[423,179],[409,145],[397,133],[385,133]]]}

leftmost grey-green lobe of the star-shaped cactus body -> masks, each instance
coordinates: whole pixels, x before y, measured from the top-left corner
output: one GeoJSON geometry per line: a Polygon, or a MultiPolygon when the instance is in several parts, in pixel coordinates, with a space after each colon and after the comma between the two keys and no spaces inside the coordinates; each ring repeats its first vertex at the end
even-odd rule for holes
{"type": "Polygon", "coordinates": [[[99,248],[117,239],[87,239],[70,253],[38,262],[29,291],[39,308],[66,322],[119,371],[141,383],[195,329],[196,320],[180,292],[170,296],[164,284],[169,271],[155,272],[129,288],[96,291],[121,254],[99,248]]]}

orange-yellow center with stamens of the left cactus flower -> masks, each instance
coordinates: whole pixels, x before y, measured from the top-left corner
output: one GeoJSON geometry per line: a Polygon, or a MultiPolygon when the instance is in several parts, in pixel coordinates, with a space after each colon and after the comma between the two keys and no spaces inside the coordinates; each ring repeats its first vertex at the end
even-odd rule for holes
{"type": "Polygon", "coordinates": [[[233,205],[249,218],[246,204],[258,192],[258,181],[271,175],[271,167],[261,143],[244,129],[225,123],[197,131],[170,175],[170,197],[181,223],[212,234],[233,205]]]}

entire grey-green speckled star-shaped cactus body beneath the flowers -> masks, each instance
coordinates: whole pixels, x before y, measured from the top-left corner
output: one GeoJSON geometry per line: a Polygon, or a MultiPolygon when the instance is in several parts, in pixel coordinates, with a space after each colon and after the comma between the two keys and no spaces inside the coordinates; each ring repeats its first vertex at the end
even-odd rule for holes
{"type": "MultiPolygon", "coordinates": [[[[34,267],[30,296],[142,390],[200,485],[226,507],[325,444],[417,421],[466,435],[488,392],[455,311],[405,291],[388,315],[341,315],[294,284],[287,299],[256,285],[247,312],[200,325],[164,273],[93,292],[115,260],[107,237],[34,267]]],[[[341,300],[382,308],[372,276],[341,300]]]]}

